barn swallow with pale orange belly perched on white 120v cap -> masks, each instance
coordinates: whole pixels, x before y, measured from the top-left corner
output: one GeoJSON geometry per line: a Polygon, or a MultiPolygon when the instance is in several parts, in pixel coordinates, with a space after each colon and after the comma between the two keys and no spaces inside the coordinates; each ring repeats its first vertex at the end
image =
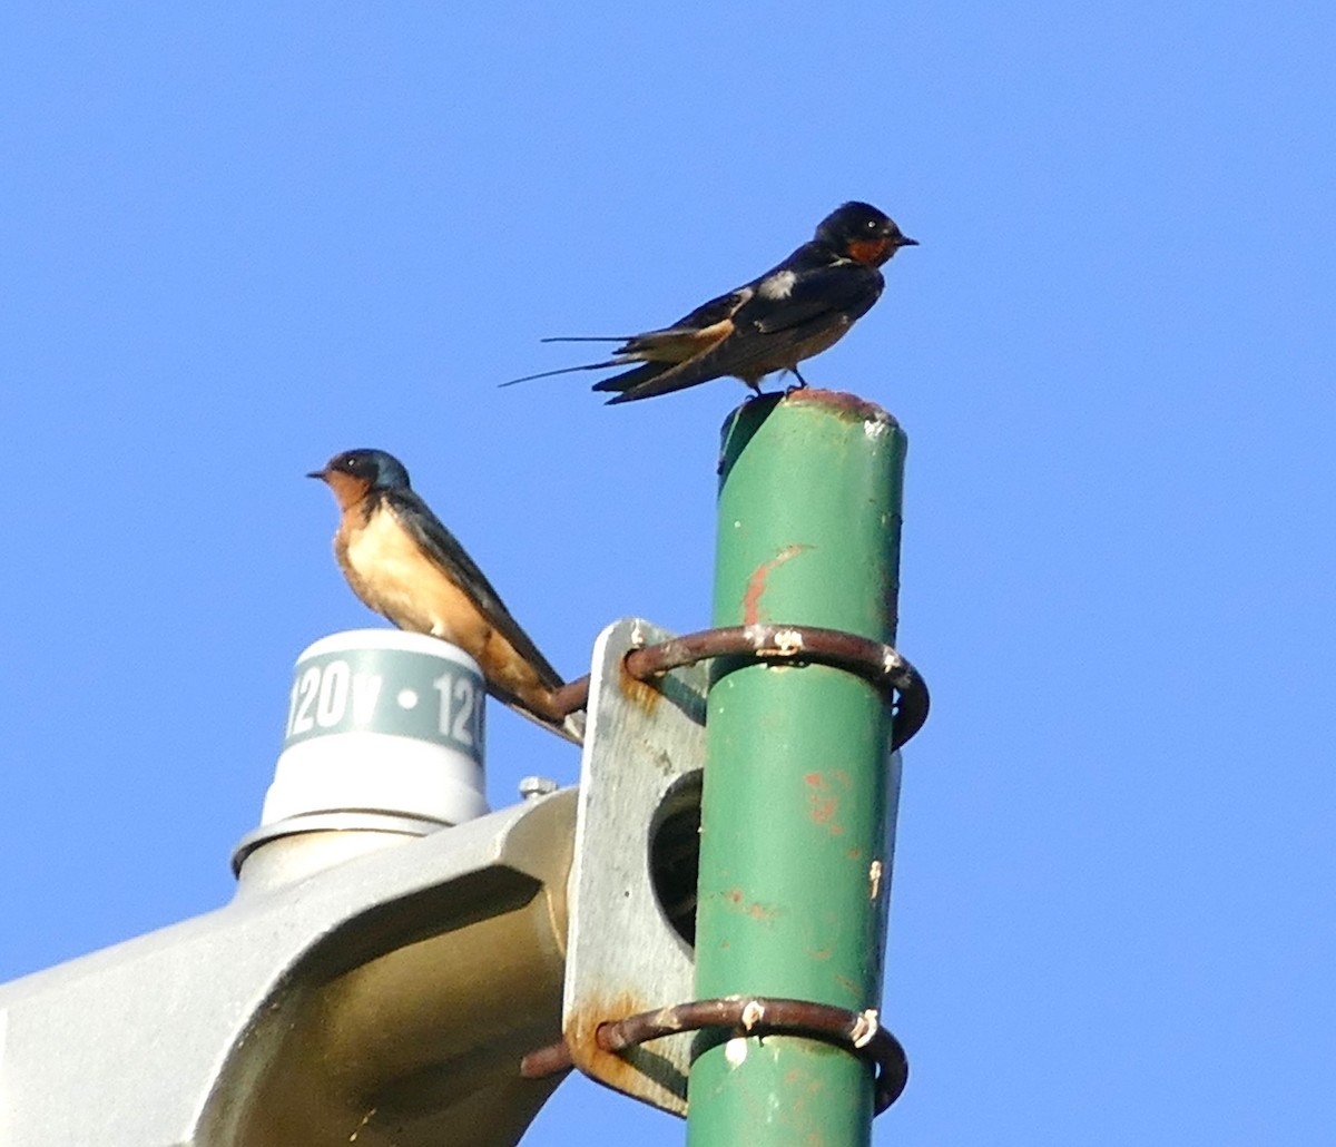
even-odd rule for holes
{"type": "Polygon", "coordinates": [[[334,556],[369,608],[401,630],[458,646],[482,668],[497,700],[580,743],[581,718],[562,717],[552,705],[561,675],[414,493],[398,459],[385,451],[346,451],[307,477],[334,492],[342,511],[334,556]]]}

